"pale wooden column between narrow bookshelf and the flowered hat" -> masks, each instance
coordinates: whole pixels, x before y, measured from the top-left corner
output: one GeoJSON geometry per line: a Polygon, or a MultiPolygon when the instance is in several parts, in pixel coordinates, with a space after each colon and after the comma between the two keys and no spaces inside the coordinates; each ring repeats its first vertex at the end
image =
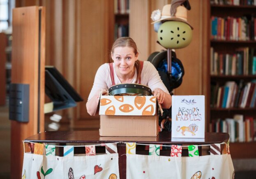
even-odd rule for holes
{"type": "Polygon", "coordinates": [[[130,0],[129,33],[139,50],[139,59],[148,60],[148,56],[164,49],[157,43],[157,32],[150,18],[152,11],[162,9],[171,0],[130,0]]]}

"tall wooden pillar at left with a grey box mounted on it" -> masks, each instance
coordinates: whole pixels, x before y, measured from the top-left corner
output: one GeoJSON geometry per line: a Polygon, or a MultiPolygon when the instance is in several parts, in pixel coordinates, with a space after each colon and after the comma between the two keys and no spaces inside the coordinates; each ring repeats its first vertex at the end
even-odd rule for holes
{"type": "Polygon", "coordinates": [[[13,9],[12,83],[29,84],[29,122],[11,124],[11,178],[21,176],[22,140],[44,131],[45,9],[13,9]]]}

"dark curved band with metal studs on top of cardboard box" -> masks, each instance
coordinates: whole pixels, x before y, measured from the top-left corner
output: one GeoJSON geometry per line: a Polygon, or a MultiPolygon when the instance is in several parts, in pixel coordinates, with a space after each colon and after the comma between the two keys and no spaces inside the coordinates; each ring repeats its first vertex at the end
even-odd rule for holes
{"type": "Polygon", "coordinates": [[[108,89],[108,93],[112,96],[114,95],[124,95],[124,96],[151,96],[152,91],[149,87],[145,85],[140,85],[136,83],[124,83],[113,85],[108,89]]]}

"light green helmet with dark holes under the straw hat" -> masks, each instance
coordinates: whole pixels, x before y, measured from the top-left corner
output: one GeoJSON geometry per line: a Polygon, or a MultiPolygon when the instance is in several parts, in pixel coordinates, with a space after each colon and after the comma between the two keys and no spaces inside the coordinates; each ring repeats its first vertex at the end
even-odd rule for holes
{"type": "Polygon", "coordinates": [[[192,29],[185,22],[166,21],[158,29],[158,42],[166,49],[187,47],[192,40],[192,29]]]}

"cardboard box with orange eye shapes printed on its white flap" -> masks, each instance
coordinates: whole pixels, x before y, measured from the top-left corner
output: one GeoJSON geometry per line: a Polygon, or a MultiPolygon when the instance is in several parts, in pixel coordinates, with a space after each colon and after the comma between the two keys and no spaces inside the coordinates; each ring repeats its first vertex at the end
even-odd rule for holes
{"type": "Polygon", "coordinates": [[[100,136],[157,136],[156,96],[101,96],[100,136]]]}

